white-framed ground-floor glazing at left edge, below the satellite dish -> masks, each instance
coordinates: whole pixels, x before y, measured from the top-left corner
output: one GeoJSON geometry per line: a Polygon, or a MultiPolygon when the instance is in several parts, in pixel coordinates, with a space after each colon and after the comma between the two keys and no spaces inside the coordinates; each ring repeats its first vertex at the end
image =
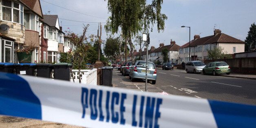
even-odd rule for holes
{"type": "Polygon", "coordinates": [[[0,42],[0,62],[9,62],[13,63],[13,42],[9,40],[2,39],[2,42],[0,42]]]}

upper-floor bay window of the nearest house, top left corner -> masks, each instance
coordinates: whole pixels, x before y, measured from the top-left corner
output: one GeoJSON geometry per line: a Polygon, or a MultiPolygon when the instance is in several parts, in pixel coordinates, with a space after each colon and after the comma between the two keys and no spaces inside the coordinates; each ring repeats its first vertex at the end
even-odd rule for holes
{"type": "Polygon", "coordinates": [[[2,0],[2,20],[23,24],[24,7],[11,0],[2,0]]]}

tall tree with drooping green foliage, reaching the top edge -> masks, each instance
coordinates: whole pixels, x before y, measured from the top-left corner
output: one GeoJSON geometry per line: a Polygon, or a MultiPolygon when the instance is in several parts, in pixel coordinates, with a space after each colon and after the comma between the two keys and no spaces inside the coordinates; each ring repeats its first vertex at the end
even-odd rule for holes
{"type": "MultiPolygon", "coordinates": [[[[147,0],[108,0],[108,11],[111,16],[105,25],[106,32],[117,33],[121,28],[121,33],[133,51],[132,37],[139,31],[148,33],[155,23],[157,30],[164,30],[167,16],[161,13],[163,0],[152,0],[151,4],[147,0]]],[[[132,52],[132,62],[133,62],[132,52]]]]}

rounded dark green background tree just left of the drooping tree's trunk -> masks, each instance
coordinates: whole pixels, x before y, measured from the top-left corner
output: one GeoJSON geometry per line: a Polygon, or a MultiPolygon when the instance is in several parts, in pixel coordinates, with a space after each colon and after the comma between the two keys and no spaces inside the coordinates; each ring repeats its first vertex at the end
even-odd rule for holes
{"type": "Polygon", "coordinates": [[[119,53],[119,38],[113,38],[113,37],[109,37],[106,40],[106,45],[105,45],[105,55],[107,57],[113,57],[116,58],[117,55],[120,55],[119,53]]]}

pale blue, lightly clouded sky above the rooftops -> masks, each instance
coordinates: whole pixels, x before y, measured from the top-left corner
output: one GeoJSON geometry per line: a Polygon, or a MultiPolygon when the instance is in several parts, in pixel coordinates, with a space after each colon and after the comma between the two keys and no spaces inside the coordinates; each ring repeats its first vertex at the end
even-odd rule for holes
{"type": "MultiPolygon", "coordinates": [[[[82,33],[84,22],[90,24],[88,35],[97,35],[97,22],[102,22],[102,40],[106,40],[111,35],[104,30],[110,15],[105,0],[40,0],[40,2],[43,14],[58,15],[63,31],[69,28],[75,33],[82,33]]],[[[191,40],[194,39],[194,35],[200,34],[201,37],[213,35],[215,26],[215,29],[221,29],[222,33],[244,41],[249,27],[256,22],[256,0],[163,0],[161,12],[168,16],[168,20],[165,21],[164,31],[160,33],[155,24],[153,31],[150,32],[150,46],[157,48],[159,42],[169,45],[171,39],[180,46],[189,42],[189,28],[181,28],[183,25],[191,27],[191,40]]],[[[139,46],[135,48],[138,51],[139,46]]]]}

